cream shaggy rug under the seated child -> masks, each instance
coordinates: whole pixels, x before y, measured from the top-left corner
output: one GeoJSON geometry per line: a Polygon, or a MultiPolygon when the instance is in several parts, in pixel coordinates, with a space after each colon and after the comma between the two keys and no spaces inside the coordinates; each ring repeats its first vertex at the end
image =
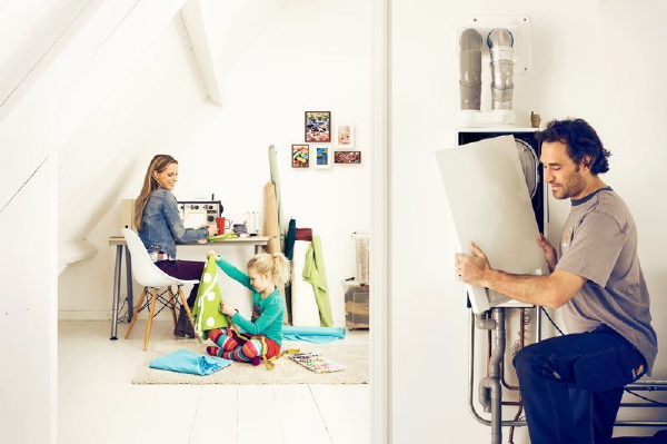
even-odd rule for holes
{"type": "MultiPolygon", "coordinates": [[[[207,342],[208,343],[208,342],[207,342]]],[[[207,344],[205,343],[205,344],[207,344]]],[[[208,343],[210,344],[210,343],[208,343]]],[[[161,344],[153,352],[149,352],[146,362],[141,365],[132,384],[223,384],[223,385],[259,385],[259,384],[368,384],[368,344],[309,344],[301,342],[285,342],[282,351],[299,348],[301,352],[320,353],[322,357],[331,359],[345,367],[342,372],[315,373],[297,364],[283,355],[275,361],[276,368],[267,371],[263,364],[231,363],[231,365],[207,376],[190,375],[185,373],[150,368],[149,363],[178,349],[189,349],[206,354],[206,346],[195,341],[161,344]]]]}

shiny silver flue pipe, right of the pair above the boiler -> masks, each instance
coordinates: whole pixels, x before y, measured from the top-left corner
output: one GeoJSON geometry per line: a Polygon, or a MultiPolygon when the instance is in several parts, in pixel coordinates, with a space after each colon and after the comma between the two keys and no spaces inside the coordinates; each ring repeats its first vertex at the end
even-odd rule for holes
{"type": "Polygon", "coordinates": [[[514,92],[514,37],[505,28],[489,32],[487,45],[491,55],[491,109],[511,109],[514,92]]]}

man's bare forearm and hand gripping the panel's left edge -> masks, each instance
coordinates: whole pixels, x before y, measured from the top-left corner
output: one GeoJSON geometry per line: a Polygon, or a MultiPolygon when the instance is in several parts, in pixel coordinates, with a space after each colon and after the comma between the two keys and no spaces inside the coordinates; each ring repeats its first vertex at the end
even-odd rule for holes
{"type": "Polygon", "coordinates": [[[486,255],[475,243],[470,243],[470,249],[475,256],[456,255],[456,268],[461,282],[490,288],[522,303],[558,308],[586,283],[586,278],[563,270],[555,270],[549,276],[500,272],[490,267],[486,255]]]}

